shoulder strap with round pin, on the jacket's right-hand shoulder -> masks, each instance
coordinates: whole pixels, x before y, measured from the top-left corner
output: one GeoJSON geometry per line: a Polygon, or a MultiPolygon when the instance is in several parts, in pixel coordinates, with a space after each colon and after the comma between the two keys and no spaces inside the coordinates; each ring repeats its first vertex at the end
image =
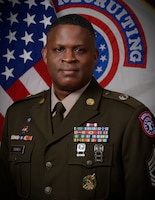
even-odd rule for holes
{"type": "Polygon", "coordinates": [[[135,99],[132,96],[129,96],[128,94],[124,94],[124,93],[114,92],[114,91],[110,91],[110,90],[104,90],[103,96],[106,98],[113,99],[115,101],[119,101],[119,102],[128,104],[129,106],[134,107],[134,108],[144,105],[139,100],[135,99]]]}

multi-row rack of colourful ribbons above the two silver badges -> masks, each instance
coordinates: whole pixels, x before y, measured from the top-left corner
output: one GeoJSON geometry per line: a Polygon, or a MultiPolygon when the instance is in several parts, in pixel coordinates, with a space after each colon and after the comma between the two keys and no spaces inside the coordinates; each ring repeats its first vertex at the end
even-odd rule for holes
{"type": "Polygon", "coordinates": [[[97,123],[87,123],[85,127],[74,127],[74,142],[108,142],[109,127],[99,127],[97,123]]]}

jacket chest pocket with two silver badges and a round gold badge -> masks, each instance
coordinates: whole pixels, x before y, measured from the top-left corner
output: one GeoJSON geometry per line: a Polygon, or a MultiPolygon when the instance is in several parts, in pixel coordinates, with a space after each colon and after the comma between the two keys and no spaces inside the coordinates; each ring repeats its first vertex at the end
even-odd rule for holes
{"type": "Polygon", "coordinates": [[[113,145],[73,143],[69,145],[70,199],[106,199],[110,190],[113,145]]]}

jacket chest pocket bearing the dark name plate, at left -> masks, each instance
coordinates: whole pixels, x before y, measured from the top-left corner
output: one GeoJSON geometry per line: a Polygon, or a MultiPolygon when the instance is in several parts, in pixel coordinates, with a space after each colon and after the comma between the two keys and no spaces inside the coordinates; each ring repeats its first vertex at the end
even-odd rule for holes
{"type": "Polygon", "coordinates": [[[33,141],[12,141],[10,146],[10,168],[13,181],[20,197],[27,198],[30,193],[31,156],[33,141]]]}

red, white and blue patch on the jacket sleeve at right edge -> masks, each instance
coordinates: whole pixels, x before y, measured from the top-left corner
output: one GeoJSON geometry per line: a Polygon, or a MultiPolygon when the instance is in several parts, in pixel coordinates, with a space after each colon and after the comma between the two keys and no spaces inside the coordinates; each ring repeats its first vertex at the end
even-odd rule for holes
{"type": "Polygon", "coordinates": [[[155,137],[155,124],[149,111],[142,112],[138,117],[144,133],[149,137],[155,137]]]}

